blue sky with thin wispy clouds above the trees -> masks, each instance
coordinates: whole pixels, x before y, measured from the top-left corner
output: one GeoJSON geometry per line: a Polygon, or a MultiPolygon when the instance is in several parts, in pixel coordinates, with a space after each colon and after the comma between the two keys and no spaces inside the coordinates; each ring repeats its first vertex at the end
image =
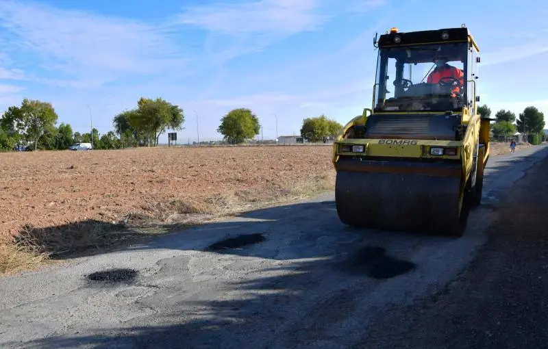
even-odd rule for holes
{"type": "Polygon", "coordinates": [[[548,116],[547,16],[544,1],[1,0],[0,110],[49,101],[58,123],[86,132],[90,105],[106,133],[141,96],[161,96],[184,109],[179,143],[196,140],[197,116],[201,140],[221,139],[236,107],[273,139],[274,114],[278,135],[291,135],[303,118],[344,124],[371,106],[375,32],[466,23],[481,103],[548,116]]]}

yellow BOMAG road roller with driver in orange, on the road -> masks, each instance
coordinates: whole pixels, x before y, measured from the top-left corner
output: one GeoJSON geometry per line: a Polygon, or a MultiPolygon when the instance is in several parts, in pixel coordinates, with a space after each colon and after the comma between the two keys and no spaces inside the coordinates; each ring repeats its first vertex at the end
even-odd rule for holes
{"type": "Polygon", "coordinates": [[[371,108],[333,146],[335,201],[353,227],[460,236],[482,199],[490,121],[465,25],[375,36],[371,108]]]}

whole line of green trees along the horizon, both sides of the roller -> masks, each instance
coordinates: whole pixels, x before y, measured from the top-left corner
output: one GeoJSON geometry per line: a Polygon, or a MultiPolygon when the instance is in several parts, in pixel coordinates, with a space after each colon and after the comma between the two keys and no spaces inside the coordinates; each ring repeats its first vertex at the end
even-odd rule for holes
{"type": "MultiPolygon", "coordinates": [[[[482,116],[490,117],[491,109],[482,105],[482,116]]],[[[519,131],[543,139],[544,114],[536,107],[526,107],[518,117],[509,110],[495,114],[492,125],[495,138],[511,137],[519,131]]],[[[134,109],[114,116],[113,131],[99,136],[97,129],[91,133],[73,132],[71,125],[57,125],[58,114],[51,103],[23,99],[21,105],[11,106],[0,118],[0,149],[12,150],[17,146],[36,149],[66,149],[76,142],[93,142],[96,149],[123,148],[128,146],[158,146],[160,135],[168,129],[180,131],[185,117],[183,109],[164,99],[141,98],[134,109]]],[[[336,120],[321,115],[305,118],[301,137],[308,142],[326,142],[343,127],[336,120]]],[[[251,109],[237,108],[221,118],[217,131],[225,142],[240,144],[260,133],[260,122],[251,109]]]]}

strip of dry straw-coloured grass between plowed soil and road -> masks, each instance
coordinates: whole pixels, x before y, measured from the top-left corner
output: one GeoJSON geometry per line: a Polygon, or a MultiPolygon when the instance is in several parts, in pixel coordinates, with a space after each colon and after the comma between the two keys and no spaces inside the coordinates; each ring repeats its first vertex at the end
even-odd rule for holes
{"type": "Polygon", "coordinates": [[[250,190],[232,190],[203,198],[186,195],[147,204],[142,207],[144,213],[128,212],[117,222],[84,220],[55,227],[26,225],[12,242],[0,243],[0,274],[33,269],[52,259],[93,253],[138,237],[179,231],[253,209],[306,200],[333,188],[334,174],[319,174],[266,196],[250,190]]]}

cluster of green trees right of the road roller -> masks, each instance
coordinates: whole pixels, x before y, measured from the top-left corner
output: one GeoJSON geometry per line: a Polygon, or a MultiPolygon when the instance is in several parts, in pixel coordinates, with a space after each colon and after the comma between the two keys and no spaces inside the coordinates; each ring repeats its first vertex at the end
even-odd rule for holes
{"type": "MultiPolygon", "coordinates": [[[[491,116],[491,109],[487,105],[479,107],[477,112],[482,116],[491,116]]],[[[508,138],[519,132],[540,140],[547,139],[547,135],[543,132],[544,114],[534,106],[525,107],[517,118],[516,114],[510,110],[501,109],[495,114],[495,119],[495,123],[491,125],[495,138],[508,138]]]]}

